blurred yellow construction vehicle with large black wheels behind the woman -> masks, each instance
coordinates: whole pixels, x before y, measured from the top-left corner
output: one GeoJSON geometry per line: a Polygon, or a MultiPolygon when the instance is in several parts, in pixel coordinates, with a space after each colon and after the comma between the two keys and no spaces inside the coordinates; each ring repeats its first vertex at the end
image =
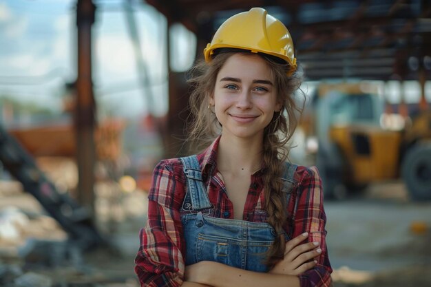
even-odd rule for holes
{"type": "Polygon", "coordinates": [[[327,198],[402,178],[413,200],[431,200],[431,111],[403,118],[386,106],[373,85],[317,87],[306,121],[327,198]]]}

